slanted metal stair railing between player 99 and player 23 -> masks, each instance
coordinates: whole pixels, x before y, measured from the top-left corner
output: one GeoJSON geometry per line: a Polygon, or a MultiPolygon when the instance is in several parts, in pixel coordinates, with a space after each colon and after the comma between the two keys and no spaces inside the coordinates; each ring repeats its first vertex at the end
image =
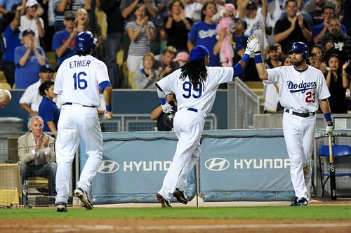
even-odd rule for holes
{"type": "Polygon", "coordinates": [[[253,128],[253,114],[260,113],[260,98],[239,78],[227,87],[228,128],[253,128]]]}

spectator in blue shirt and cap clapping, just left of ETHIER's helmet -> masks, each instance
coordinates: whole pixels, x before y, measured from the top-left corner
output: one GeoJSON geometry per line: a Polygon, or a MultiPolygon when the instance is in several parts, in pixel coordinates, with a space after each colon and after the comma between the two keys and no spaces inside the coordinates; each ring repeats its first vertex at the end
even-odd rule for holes
{"type": "Polygon", "coordinates": [[[75,38],[78,30],[74,27],[75,16],[72,11],[65,12],[65,29],[55,32],[53,35],[53,51],[58,57],[58,66],[61,65],[63,60],[72,57],[76,54],[75,51],[75,38]]]}

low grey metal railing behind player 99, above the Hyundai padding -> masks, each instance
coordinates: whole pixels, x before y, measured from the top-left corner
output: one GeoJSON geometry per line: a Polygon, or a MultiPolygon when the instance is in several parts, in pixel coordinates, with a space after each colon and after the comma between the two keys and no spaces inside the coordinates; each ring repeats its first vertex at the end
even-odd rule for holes
{"type": "MultiPolygon", "coordinates": [[[[157,121],[150,114],[113,114],[111,121],[100,121],[103,132],[155,131],[157,121]]],[[[217,129],[216,114],[210,113],[205,120],[204,130],[217,129]]]]}

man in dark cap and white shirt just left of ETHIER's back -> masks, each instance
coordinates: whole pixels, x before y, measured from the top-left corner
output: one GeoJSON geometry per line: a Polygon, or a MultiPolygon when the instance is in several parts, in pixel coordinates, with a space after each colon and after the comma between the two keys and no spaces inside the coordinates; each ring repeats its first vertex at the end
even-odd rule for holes
{"type": "Polygon", "coordinates": [[[44,84],[46,81],[53,79],[53,72],[53,67],[51,67],[51,65],[48,63],[42,65],[39,72],[39,81],[28,86],[20,98],[20,107],[22,107],[22,109],[24,109],[29,116],[38,114],[39,105],[43,99],[42,96],[39,95],[39,86],[44,84]]]}

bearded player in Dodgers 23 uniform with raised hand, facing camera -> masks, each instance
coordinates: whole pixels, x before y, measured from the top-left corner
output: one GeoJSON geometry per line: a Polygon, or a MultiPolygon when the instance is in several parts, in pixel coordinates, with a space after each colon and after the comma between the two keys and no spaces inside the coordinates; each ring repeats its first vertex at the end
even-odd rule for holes
{"type": "Polygon", "coordinates": [[[276,82],[279,86],[279,101],[284,107],[284,138],[296,195],[290,206],[307,206],[307,187],[310,187],[312,175],[315,113],[320,106],[327,122],[326,133],[332,134],[333,121],[328,102],[330,94],[322,72],[306,64],[308,47],[302,42],[295,42],[289,53],[293,65],[266,69],[260,48],[256,46],[255,62],[260,79],[264,80],[263,84],[276,82]]]}

